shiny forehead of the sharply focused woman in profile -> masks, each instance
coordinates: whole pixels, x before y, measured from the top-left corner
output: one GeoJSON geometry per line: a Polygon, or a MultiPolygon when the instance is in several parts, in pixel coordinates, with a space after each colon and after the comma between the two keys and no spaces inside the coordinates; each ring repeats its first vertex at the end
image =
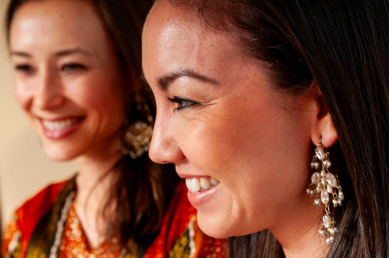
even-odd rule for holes
{"type": "MultiPolygon", "coordinates": [[[[196,14],[173,7],[167,0],[152,8],[143,29],[143,64],[157,73],[193,69],[217,75],[234,72],[243,56],[228,35],[206,28],[196,14]]],[[[147,77],[147,76],[146,76],[147,77]]]]}

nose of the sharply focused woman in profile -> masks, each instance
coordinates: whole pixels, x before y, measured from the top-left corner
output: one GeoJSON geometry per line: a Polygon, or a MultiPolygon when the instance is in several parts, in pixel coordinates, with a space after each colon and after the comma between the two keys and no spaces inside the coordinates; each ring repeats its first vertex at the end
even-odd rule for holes
{"type": "Polygon", "coordinates": [[[185,158],[179,144],[175,141],[175,125],[167,117],[157,117],[154,124],[153,137],[151,138],[149,157],[160,164],[177,163],[185,158]]]}

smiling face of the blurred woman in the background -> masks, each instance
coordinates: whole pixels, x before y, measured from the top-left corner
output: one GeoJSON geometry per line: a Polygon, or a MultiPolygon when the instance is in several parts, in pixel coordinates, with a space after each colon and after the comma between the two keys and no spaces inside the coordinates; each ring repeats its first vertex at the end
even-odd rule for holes
{"type": "Polygon", "coordinates": [[[126,96],[117,54],[86,0],[29,1],[10,29],[18,104],[51,158],[116,148],[126,96]]]}

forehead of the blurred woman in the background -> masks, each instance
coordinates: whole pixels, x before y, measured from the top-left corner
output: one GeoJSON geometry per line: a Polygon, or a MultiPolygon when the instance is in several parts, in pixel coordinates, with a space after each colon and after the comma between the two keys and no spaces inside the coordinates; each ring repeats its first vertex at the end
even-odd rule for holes
{"type": "Polygon", "coordinates": [[[33,0],[21,5],[14,15],[10,46],[60,48],[79,42],[99,42],[105,35],[102,20],[87,0],[33,0]]]}

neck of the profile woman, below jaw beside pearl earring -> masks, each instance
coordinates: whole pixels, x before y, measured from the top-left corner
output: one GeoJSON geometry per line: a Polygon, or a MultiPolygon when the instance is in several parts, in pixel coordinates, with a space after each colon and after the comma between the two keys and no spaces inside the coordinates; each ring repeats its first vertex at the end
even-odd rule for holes
{"type": "Polygon", "coordinates": [[[305,192],[299,197],[298,203],[294,203],[276,226],[269,229],[281,243],[286,258],[324,258],[328,247],[318,233],[324,206],[318,211],[313,205],[314,198],[305,192]]]}

